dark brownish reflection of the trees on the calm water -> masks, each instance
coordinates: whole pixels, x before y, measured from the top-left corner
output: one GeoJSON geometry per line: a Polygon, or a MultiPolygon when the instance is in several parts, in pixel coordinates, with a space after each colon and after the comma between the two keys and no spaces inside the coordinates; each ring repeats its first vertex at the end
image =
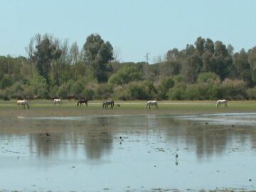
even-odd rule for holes
{"type": "MultiPolygon", "coordinates": [[[[113,149],[114,137],[117,142],[119,135],[124,137],[145,137],[146,141],[167,142],[176,149],[185,148],[194,150],[198,159],[210,158],[213,155],[222,155],[235,146],[234,140],[242,146],[256,146],[256,132],[251,126],[230,126],[227,124],[205,124],[187,119],[176,119],[166,115],[139,115],[139,116],[95,116],[90,120],[83,119],[77,122],[59,119],[45,121],[33,119],[33,129],[45,127],[45,132],[30,134],[28,143],[31,153],[36,151],[39,158],[50,158],[62,154],[73,155],[81,153],[86,159],[100,159],[110,154],[113,149]],[[67,129],[69,127],[70,129],[67,129]],[[58,132],[54,133],[54,130],[58,132]],[[46,132],[52,132],[47,135],[46,132]],[[161,139],[159,139],[161,137],[161,139]]],[[[1,134],[9,137],[9,134],[1,134]]]]}

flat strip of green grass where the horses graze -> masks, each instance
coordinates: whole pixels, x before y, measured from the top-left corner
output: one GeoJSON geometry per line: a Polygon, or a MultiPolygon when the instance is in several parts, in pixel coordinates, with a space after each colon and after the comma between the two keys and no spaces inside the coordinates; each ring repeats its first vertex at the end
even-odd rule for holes
{"type": "Polygon", "coordinates": [[[215,101],[160,101],[159,109],[151,107],[145,109],[146,101],[115,101],[114,110],[102,110],[102,101],[89,101],[89,107],[77,107],[76,102],[63,100],[62,106],[53,106],[51,100],[32,100],[30,110],[18,109],[16,100],[0,101],[0,114],[6,111],[18,113],[41,114],[49,113],[55,115],[79,115],[79,114],[201,114],[218,112],[256,112],[255,101],[229,101],[228,107],[216,107],[215,101]],[[29,111],[29,112],[26,112],[29,111]]]}

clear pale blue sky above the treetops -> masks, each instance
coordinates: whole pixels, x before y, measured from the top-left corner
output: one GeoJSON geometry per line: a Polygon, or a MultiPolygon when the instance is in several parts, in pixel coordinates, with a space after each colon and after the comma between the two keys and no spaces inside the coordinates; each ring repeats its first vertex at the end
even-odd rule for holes
{"type": "Polygon", "coordinates": [[[199,36],[256,46],[254,0],[0,0],[0,55],[26,56],[36,33],[68,38],[82,48],[98,33],[119,50],[122,62],[145,61],[186,48],[199,36]]]}

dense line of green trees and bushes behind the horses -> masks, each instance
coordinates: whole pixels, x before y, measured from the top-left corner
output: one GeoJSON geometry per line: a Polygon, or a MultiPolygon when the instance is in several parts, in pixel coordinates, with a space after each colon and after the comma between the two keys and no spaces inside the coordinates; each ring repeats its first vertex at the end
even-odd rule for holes
{"type": "Polygon", "coordinates": [[[119,63],[99,34],[78,43],[40,33],[26,56],[0,56],[0,98],[88,100],[248,100],[256,98],[256,47],[234,53],[231,45],[198,37],[183,50],[168,50],[149,65],[119,63]]]}

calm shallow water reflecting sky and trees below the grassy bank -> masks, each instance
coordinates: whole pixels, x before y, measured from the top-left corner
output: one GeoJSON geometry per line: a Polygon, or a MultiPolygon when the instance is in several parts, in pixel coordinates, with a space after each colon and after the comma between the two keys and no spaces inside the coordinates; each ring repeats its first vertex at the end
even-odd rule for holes
{"type": "Polygon", "coordinates": [[[0,119],[16,126],[0,132],[0,190],[255,189],[255,121],[254,113],[0,119]]]}

